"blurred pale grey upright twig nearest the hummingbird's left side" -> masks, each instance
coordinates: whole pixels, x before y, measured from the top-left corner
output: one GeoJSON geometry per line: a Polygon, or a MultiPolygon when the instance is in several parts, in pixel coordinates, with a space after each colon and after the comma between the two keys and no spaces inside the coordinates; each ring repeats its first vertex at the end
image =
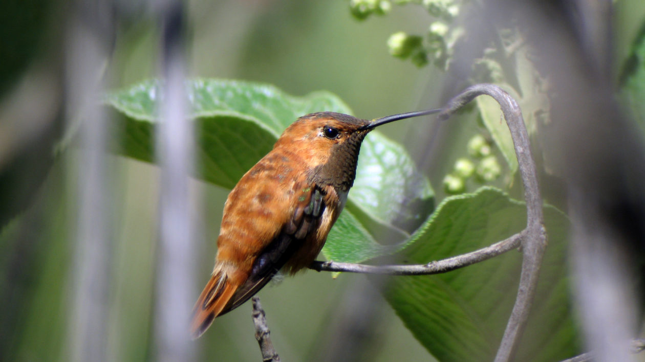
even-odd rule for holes
{"type": "Polygon", "coordinates": [[[194,296],[194,240],[188,175],[193,165],[192,122],[184,89],[184,8],[179,0],[155,3],[162,26],[163,90],[157,157],[161,163],[155,348],[159,361],[191,361],[188,321],[194,296]]]}

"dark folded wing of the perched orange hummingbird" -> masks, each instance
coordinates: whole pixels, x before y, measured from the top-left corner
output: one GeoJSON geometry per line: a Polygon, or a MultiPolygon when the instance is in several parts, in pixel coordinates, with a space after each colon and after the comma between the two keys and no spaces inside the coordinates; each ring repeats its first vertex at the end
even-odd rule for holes
{"type": "Polygon", "coordinates": [[[297,198],[292,217],[257,257],[250,276],[235,291],[219,315],[239,307],[262,289],[303,246],[304,241],[315,233],[325,209],[323,190],[315,185],[306,185],[297,189],[302,192],[302,195],[297,198]]]}

